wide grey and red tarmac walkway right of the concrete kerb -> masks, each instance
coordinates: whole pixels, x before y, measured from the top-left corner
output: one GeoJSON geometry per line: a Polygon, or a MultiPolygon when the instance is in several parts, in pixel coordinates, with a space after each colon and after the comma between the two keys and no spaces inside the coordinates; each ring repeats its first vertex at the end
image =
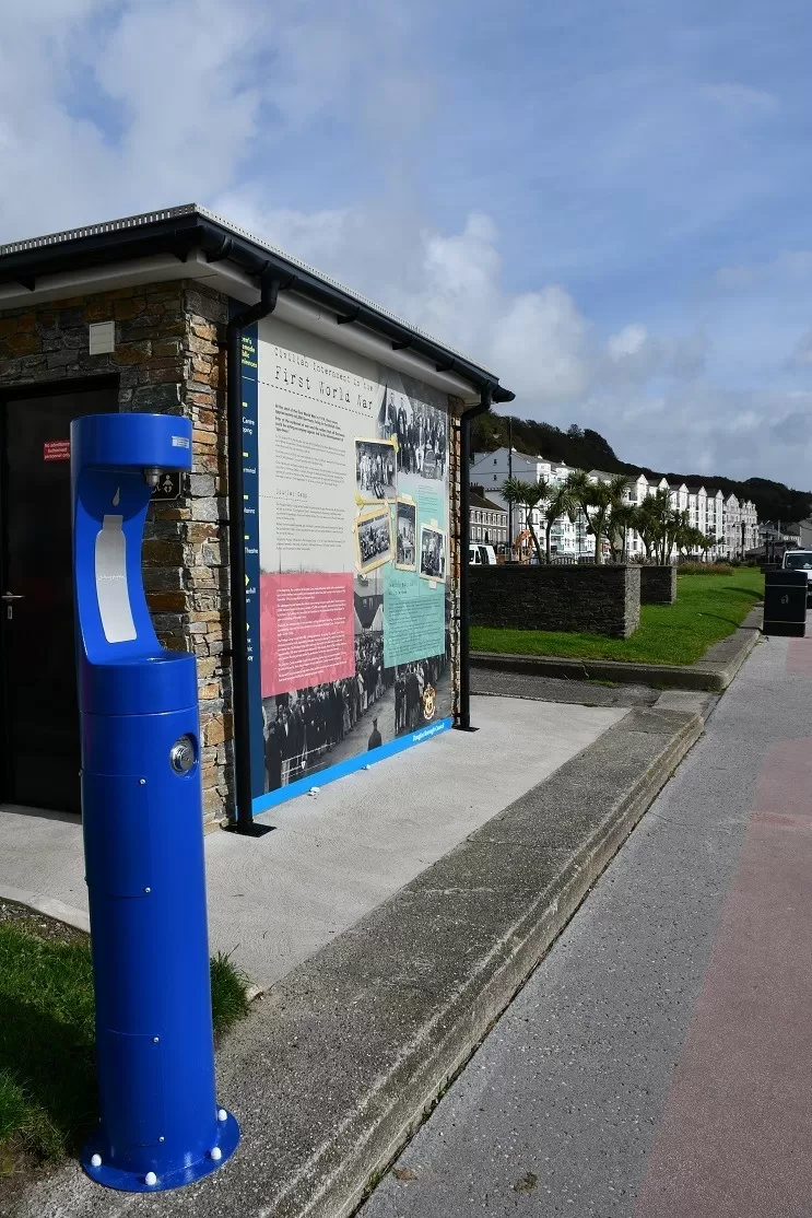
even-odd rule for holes
{"type": "Polygon", "coordinates": [[[812,638],[768,639],[363,1218],[812,1213],[812,638]]]}

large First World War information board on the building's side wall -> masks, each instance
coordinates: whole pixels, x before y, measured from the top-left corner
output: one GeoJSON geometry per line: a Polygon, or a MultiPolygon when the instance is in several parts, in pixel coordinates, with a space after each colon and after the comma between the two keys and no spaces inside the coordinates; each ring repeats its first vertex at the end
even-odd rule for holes
{"type": "Polygon", "coordinates": [[[254,814],[450,726],[446,395],[275,318],[242,345],[254,814]]]}

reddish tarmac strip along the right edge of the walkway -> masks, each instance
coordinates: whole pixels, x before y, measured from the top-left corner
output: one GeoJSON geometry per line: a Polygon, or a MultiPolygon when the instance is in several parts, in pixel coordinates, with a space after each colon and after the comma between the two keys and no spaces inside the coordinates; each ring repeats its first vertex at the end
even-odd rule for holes
{"type": "MultiPolygon", "coordinates": [[[[786,672],[812,677],[812,638],[786,672]]],[[[812,682],[810,682],[812,699],[812,682]]],[[[773,743],[637,1218],[812,1214],[812,739],[773,743]]]]}

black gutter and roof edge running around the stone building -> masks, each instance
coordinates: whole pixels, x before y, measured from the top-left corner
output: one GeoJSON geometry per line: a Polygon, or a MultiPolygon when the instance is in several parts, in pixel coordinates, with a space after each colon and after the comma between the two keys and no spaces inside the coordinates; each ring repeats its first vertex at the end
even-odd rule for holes
{"type": "MultiPolygon", "coordinates": [[[[44,244],[2,255],[0,284],[24,283],[27,287],[33,289],[37,279],[43,275],[75,272],[114,261],[147,258],[158,253],[172,255],[183,262],[194,250],[201,250],[212,262],[228,259],[248,275],[259,278],[271,275],[282,284],[293,275],[297,294],[335,313],[337,324],[354,322],[363,325],[373,334],[388,339],[392,350],[410,350],[433,363],[439,370],[453,370],[480,393],[489,387],[493,402],[513,401],[513,393],[502,389],[486,369],[470,363],[463,356],[452,356],[446,347],[415,333],[396,318],[358,301],[351,292],[324,283],[315,273],[298,267],[282,255],[265,250],[239,233],[231,233],[200,212],[190,211],[185,216],[145,222],[125,229],[111,227],[108,230],[89,233],[68,241],[44,244]]],[[[1,302],[0,308],[2,308],[1,302]]]]}

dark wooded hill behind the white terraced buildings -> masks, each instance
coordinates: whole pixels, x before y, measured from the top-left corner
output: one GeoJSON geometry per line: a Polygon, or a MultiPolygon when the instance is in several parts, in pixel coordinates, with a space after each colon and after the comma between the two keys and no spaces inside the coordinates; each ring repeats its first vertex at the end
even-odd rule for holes
{"type": "MultiPolygon", "coordinates": [[[[705,474],[654,470],[646,465],[623,462],[600,432],[579,428],[573,423],[566,431],[551,423],[534,419],[513,420],[514,448],[530,456],[542,454],[548,460],[566,462],[576,469],[604,469],[610,474],[645,474],[650,479],[667,477],[670,482],[695,481],[707,488],[718,487],[723,495],[735,495],[739,499],[752,499],[760,520],[780,520],[784,524],[812,516],[812,492],[795,491],[783,482],[767,477],[747,477],[743,482],[732,477],[705,474]]],[[[488,410],[474,420],[471,448],[475,452],[493,452],[508,445],[508,415],[488,410]]]]}

